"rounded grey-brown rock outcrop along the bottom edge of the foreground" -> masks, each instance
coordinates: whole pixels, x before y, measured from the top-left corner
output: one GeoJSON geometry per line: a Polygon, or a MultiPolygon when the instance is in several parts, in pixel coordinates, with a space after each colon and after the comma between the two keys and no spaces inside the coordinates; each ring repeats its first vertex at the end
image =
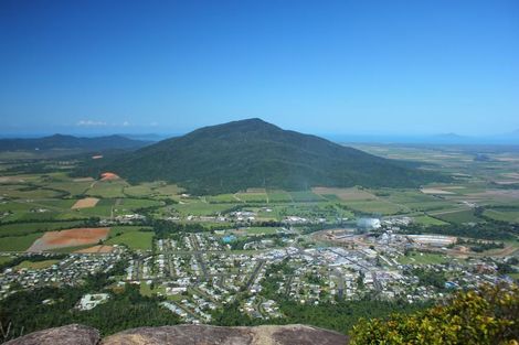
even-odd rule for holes
{"type": "Polygon", "coordinates": [[[99,342],[96,330],[68,325],[35,332],[11,341],[9,345],[346,345],[339,333],[305,325],[218,327],[178,325],[140,327],[110,335],[99,342]]]}

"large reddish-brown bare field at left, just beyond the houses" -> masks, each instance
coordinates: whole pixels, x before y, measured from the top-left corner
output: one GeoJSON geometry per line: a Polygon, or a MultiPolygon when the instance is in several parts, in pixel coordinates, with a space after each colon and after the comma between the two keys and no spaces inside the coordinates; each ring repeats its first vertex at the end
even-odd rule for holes
{"type": "Polygon", "coordinates": [[[108,236],[110,228],[77,228],[61,231],[46,231],[27,251],[95,245],[108,236]]]}

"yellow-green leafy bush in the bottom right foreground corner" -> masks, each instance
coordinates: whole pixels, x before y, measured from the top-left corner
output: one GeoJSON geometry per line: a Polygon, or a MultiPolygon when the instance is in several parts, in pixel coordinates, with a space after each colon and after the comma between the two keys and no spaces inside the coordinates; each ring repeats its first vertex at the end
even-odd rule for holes
{"type": "Polygon", "coordinates": [[[445,305],[412,315],[361,321],[351,345],[394,344],[517,344],[519,289],[484,288],[460,292],[445,305]]]}

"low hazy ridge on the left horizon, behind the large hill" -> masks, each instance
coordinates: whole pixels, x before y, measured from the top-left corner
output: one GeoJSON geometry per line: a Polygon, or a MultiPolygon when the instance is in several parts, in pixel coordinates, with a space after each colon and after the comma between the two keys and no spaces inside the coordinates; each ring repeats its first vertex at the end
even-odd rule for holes
{"type": "Polygon", "coordinates": [[[121,136],[97,138],[78,138],[54,134],[31,139],[0,139],[0,151],[34,151],[76,149],[82,151],[103,151],[120,149],[138,149],[148,144],[146,141],[133,140],[121,136]]]}

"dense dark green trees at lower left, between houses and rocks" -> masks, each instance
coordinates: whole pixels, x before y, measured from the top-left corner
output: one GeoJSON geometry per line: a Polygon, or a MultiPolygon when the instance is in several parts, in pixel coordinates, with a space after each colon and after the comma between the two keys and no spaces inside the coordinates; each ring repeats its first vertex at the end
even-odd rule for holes
{"type": "Polygon", "coordinates": [[[110,289],[109,277],[121,274],[124,268],[121,262],[108,273],[91,276],[81,287],[18,292],[0,302],[0,323],[3,330],[11,324],[12,337],[71,323],[96,327],[103,335],[139,326],[177,324],[178,317],[161,308],[159,299],[141,295],[138,287],[110,289]],[[110,293],[108,302],[91,311],[75,309],[83,294],[103,291],[110,293]],[[43,304],[44,300],[52,302],[43,304]]]}

